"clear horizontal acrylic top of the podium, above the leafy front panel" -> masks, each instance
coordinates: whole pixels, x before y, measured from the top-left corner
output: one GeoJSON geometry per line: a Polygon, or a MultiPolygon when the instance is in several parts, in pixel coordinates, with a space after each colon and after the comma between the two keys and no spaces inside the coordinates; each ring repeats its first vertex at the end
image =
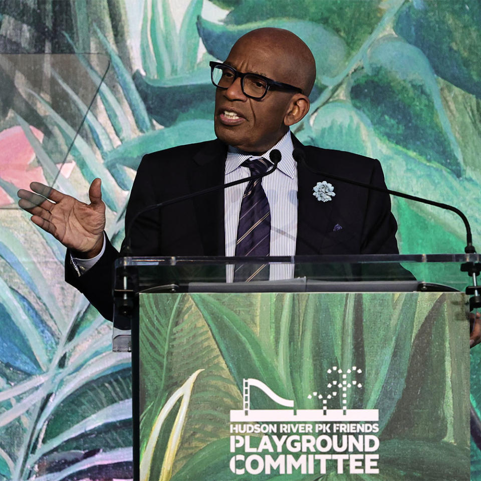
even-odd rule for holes
{"type": "MultiPolygon", "coordinates": [[[[136,292],[146,290],[154,292],[156,287],[162,290],[162,286],[166,286],[164,290],[167,291],[170,287],[177,291],[187,291],[189,284],[192,283],[229,282],[229,269],[232,269],[235,263],[252,263],[258,266],[269,263],[271,280],[258,281],[255,284],[258,288],[265,285],[267,291],[279,289],[282,283],[289,284],[288,279],[296,280],[297,284],[304,282],[306,287],[311,286],[313,291],[332,290],[329,284],[322,288],[322,283],[361,282],[382,282],[386,287],[385,290],[392,291],[396,285],[401,287],[403,282],[412,283],[412,281],[415,281],[415,285],[420,282],[433,283],[464,290],[470,283],[470,279],[466,273],[461,272],[460,267],[467,261],[479,262],[479,255],[296,256],[250,258],[249,260],[222,257],[132,257],[117,260],[116,269],[119,276],[121,267],[136,268],[138,279],[136,292]],[[288,269],[289,267],[291,269],[288,269]],[[270,289],[269,285],[272,285],[273,289],[270,289]]],[[[121,276],[118,277],[117,282],[120,282],[120,279],[121,276]]],[[[231,288],[235,291],[233,286],[231,288]]],[[[350,288],[347,287],[347,289],[350,288]]]]}

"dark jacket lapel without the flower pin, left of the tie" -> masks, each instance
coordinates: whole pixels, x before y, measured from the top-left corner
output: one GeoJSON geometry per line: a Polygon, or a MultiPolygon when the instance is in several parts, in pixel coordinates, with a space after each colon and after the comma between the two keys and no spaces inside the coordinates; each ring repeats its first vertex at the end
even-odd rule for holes
{"type": "MultiPolygon", "coordinates": [[[[224,183],[224,164],[227,148],[219,140],[208,142],[193,157],[188,172],[191,192],[224,183]]],[[[225,255],[224,191],[216,190],[193,199],[200,242],[204,256],[225,255]]]]}

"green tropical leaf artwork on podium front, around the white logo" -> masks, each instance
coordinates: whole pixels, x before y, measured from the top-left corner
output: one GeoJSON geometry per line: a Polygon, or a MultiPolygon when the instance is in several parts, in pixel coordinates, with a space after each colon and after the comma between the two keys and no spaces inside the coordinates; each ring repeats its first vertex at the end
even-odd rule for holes
{"type": "MultiPolygon", "coordinates": [[[[379,410],[379,472],[383,479],[468,478],[468,401],[460,395],[468,389],[468,359],[456,333],[463,321],[452,321],[459,319],[462,311],[462,294],[141,297],[140,452],[145,457],[141,478],[159,478],[152,472],[154,465],[147,466],[152,459],[166,462],[173,452],[168,451],[170,440],[166,441],[172,430],[179,433],[178,452],[190,454],[175,462],[168,460],[173,480],[231,479],[228,414],[243,406],[244,379],[258,379],[282,398],[293,399],[295,409],[322,409],[322,401],[307,394],[324,392],[334,377],[329,374],[332,366],[340,366],[344,372],[356,366],[359,389],[354,386],[349,391],[348,409],[379,410]],[[163,331],[165,334],[157,337],[163,331]],[[189,334],[182,335],[183,342],[178,343],[174,333],[180,332],[189,334]],[[194,370],[187,378],[185,361],[194,370]],[[165,382],[166,362],[171,363],[169,382],[165,382]],[[217,395],[207,397],[209,392],[217,395]],[[171,411],[181,395],[182,403],[171,414],[169,428],[158,436],[152,455],[150,444],[159,432],[158,419],[168,422],[164,412],[171,411]],[[212,429],[214,439],[201,434],[212,429]],[[143,448],[142,442],[147,441],[143,448]]],[[[342,399],[341,395],[332,398],[331,408],[341,408],[342,399]]],[[[251,390],[249,406],[262,412],[279,409],[261,390],[251,390]]],[[[261,434],[253,436],[253,442],[260,441],[261,434]]],[[[157,461],[156,469],[164,472],[165,466],[157,461]]],[[[268,474],[256,477],[276,479],[274,472],[268,474]]],[[[335,478],[335,465],[326,474],[335,478]]],[[[306,476],[294,472],[290,478],[306,476]]]]}

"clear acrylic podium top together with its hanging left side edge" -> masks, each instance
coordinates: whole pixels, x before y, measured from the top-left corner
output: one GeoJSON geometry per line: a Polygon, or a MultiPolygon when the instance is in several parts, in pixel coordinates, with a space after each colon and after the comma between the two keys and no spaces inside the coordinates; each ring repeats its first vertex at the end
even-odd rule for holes
{"type": "Polygon", "coordinates": [[[136,312],[134,293],[464,291],[472,284],[472,279],[461,272],[466,262],[478,263],[479,255],[120,258],[115,265],[113,349],[131,348],[130,332],[116,329],[115,325],[117,319],[122,319],[118,317],[122,306],[136,312]],[[271,280],[228,282],[229,271],[236,263],[268,263],[271,280]],[[272,279],[276,270],[290,273],[288,279],[272,279]]]}

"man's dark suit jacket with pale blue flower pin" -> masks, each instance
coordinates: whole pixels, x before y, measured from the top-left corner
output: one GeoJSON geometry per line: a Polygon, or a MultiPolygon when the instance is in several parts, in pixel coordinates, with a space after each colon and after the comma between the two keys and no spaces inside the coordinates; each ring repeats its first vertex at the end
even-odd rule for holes
{"type": "MultiPolygon", "coordinates": [[[[338,150],[302,145],[306,162],[318,170],[385,186],[378,160],[338,150]]],[[[182,145],[147,154],[137,170],[126,211],[126,225],[141,208],[224,182],[226,146],[219,140],[182,145]]],[[[397,223],[389,195],[312,174],[298,165],[296,255],[397,254],[397,223]],[[336,196],[320,202],[313,195],[326,180],[336,196]],[[341,229],[334,227],[339,224],[341,229]]],[[[224,256],[222,190],[141,215],[132,229],[135,256],[224,256]]],[[[100,261],[78,276],[66,259],[66,281],[107,319],[112,319],[112,265],[118,252],[107,243],[100,261]]]]}

